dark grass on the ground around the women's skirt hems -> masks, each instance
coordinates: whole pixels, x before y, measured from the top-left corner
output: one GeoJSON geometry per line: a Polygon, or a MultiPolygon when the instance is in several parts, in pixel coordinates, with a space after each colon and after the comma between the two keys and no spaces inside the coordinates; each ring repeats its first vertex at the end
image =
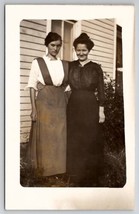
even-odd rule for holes
{"type": "MultiPolygon", "coordinates": [[[[100,187],[121,188],[126,183],[125,149],[112,152],[104,147],[104,174],[100,179],[100,187]]],[[[73,187],[66,175],[42,177],[39,172],[32,171],[24,161],[26,144],[21,144],[20,183],[23,187],[73,187]]]]}

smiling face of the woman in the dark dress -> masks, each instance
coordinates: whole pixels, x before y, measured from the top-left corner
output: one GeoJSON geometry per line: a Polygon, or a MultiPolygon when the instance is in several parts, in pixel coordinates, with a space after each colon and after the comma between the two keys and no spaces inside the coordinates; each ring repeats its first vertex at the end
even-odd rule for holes
{"type": "Polygon", "coordinates": [[[86,44],[78,44],[75,51],[76,51],[76,55],[80,61],[87,60],[89,50],[87,49],[86,44]]]}

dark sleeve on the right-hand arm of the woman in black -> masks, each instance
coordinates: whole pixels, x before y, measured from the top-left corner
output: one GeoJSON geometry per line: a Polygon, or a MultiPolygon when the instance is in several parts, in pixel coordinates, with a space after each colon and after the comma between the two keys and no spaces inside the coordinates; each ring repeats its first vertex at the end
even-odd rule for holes
{"type": "Polygon", "coordinates": [[[103,70],[100,65],[98,65],[98,72],[99,72],[99,79],[98,79],[98,101],[99,106],[104,106],[105,102],[105,93],[104,93],[104,77],[103,77],[103,70]]]}

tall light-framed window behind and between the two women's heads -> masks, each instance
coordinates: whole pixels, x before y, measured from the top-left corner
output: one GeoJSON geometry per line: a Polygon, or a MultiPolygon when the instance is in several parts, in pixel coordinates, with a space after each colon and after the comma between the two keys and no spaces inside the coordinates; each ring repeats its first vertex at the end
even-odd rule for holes
{"type": "Polygon", "coordinates": [[[71,61],[73,56],[73,20],[52,20],[51,30],[61,35],[63,45],[59,53],[59,57],[64,60],[71,61]]]}

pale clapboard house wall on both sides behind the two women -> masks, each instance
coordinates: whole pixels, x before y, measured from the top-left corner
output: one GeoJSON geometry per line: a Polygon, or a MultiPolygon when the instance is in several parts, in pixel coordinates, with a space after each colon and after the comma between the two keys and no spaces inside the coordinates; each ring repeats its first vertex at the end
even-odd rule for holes
{"type": "MultiPolygon", "coordinates": [[[[48,22],[49,23],[49,22],[48,22]]],[[[89,58],[101,64],[104,72],[113,75],[115,59],[114,20],[81,21],[81,32],[86,32],[95,46],[89,58]]],[[[29,77],[31,62],[45,54],[44,38],[47,20],[22,20],[20,23],[20,142],[28,142],[31,127],[29,90],[24,90],[29,77]]],[[[75,32],[74,32],[75,33],[75,32]]]]}

